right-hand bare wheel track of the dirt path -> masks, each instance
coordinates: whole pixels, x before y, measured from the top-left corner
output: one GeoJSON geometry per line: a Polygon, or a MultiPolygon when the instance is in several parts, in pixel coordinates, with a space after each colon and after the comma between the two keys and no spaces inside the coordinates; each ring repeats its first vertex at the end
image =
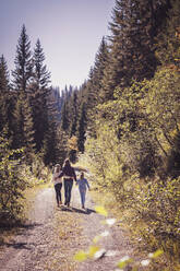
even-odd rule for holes
{"type": "MultiPolygon", "coordinates": [[[[105,256],[97,260],[86,260],[79,264],[77,271],[113,271],[116,270],[116,263],[124,256],[131,256],[132,247],[130,246],[128,238],[117,223],[113,226],[105,224],[105,217],[94,212],[95,202],[93,202],[89,195],[86,200],[87,213],[89,215],[83,221],[83,235],[85,236],[85,250],[93,245],[95,236],[99,236],[105,233],[108,235],[100,238],[97,246],[101,251],[105,251],[105,256]],[[89,209],[89,211],[88,211],[89,209]]],[[[108,219],[112,219],[111,216],[108,219]]]]}

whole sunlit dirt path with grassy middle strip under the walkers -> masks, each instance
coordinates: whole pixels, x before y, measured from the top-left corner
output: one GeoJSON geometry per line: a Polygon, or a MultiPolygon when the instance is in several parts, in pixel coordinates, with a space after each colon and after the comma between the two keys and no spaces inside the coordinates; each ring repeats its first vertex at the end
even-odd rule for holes
{"type": "Polygon", "coordinates": [[[28,223],[13,240],[0,250],[2,271],[112,271],[121,257],[131,254],[123,231],[116,225],[101,223],[103,217],[94,211],[94,202],[87,195],[83,211],[77,188],[73,187],[70,209],[57,209],[53,188],[45,188],[35,198],[28,223]],[[116,255],[75,264],[73,255],[93,244],[93,238],[109,232],[99,246],[116,255]]]}

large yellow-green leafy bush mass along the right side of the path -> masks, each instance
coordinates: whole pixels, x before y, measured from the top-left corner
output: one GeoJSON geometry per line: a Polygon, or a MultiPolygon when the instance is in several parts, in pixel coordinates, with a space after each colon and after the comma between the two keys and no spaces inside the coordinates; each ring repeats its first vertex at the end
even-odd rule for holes
{"type": "Polygon", "coordinates": [[[171,263],[180,254],[179,85],[179,71],[164,67],[149,81],[118,87],[115,101],[97,107],[96,138],[84,154],[98,185],[131,213],[133,231],[171,263]]]}

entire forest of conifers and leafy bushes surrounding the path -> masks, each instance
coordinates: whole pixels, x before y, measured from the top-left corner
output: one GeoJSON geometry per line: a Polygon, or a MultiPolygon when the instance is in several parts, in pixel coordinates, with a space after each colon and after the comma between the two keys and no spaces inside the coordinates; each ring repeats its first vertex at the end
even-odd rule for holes
{"type": "Polygon", "coordinates": [[[0,51],[0,221],[16,220],[32,179],[70,157],[111,191],[132,234],[164,251],[160,270],[178,271],[180,1],[116,0],[109,28],[79,87],[51,85],[25,25],[13,71],[0,51]]]}

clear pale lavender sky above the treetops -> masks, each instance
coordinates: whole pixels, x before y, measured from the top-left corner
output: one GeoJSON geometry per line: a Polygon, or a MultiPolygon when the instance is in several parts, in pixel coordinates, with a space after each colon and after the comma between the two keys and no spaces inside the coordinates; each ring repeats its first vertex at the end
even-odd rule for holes
{"type": "Polygon", "coordinates": [[[14,69],[17,39],[25,24],[32,50],[44,48],[51,84],[80,86],[88,78],[115,0],[0,0],[0,55],[14,69]]]}

